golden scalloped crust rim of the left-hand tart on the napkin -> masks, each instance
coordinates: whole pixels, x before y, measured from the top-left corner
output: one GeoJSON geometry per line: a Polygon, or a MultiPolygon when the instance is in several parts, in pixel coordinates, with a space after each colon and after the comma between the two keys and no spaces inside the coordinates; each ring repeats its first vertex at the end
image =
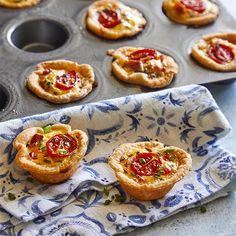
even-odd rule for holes
{"type": "Polygon", "coordinates": [[[51,126],[51,130],[60,130],[63,133],[69,133],[78,137],[78,147],[76,153],[73,154],[70,161],[61,163],[58,166],[42,166],[26,157],[27,143],[36,133],[42,133],[40,127],[31,127],[23,130],[13,141],[13,147],[17,149],[16,164],[31,173],[38,181],[42,183],[59,183],[67,180],[76,171],[80,160],[86,153],[88,137],[82,130],[71,130],[69,125],[55,124],[51,126]]]}

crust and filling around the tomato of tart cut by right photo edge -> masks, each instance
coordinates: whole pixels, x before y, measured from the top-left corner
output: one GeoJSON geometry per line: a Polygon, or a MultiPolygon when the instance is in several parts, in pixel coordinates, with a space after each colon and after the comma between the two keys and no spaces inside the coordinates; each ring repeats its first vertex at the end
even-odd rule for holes
{"type": "Polygon", "coordinates": [[[236,71],[236,33],[216,33],[203,36],[192,48],[192,56],[204,67],[215,71],[236,71]],[[231,61],[218,63],[209,57],[212,45],[225,45],[232,49],[231,61]]]}

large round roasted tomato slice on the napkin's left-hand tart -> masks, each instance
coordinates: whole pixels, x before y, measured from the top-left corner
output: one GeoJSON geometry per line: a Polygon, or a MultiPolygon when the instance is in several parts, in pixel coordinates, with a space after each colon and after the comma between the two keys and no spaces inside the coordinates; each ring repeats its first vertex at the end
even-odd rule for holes
{"type": "Polygon", "coordinates": [[[57,134],[47,141],[46,147],[50,157],[67,157],[76,150],[77,140],[69,134],[57,134]]]}

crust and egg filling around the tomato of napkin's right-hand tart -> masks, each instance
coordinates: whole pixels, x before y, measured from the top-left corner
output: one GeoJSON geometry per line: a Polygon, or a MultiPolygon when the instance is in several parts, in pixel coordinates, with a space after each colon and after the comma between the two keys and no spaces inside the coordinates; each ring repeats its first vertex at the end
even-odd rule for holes
{"type": "MultiPolygon", "coordinates": [[[[160,142],[139,142],[120,145],[109,157],[108,163],[126,192],[139,200],[154,200],[165,196],[174,184],[188,173],[192,165],[192,159],[187,152],[177,147],[164,147],[160,142]],[[171,158],[175,158],[171,164],[175,170],[173,169],[173,172],[166,176],[164,174],[163,176],[160,175],[160,172],[153,176],[140,176],[134,173],[132,167],[130,167],[134,158],[140,153],[143,155],[143,153],[150,152],[159,153],[160,157],[162,154],[171,153],[171,158]]],[[[168,161],[162,159],[161,165],[166,165],[166,163],[168,161]]]]}

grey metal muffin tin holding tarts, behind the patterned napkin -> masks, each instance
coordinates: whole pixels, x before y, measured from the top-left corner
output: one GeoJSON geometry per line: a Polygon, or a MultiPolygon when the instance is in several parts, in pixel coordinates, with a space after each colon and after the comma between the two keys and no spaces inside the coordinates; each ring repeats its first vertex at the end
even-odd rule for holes
{"type": "Polygon", "coordinates": [[[99,38],[86,29],[87,0],[43,0],[29,9],[0,8],[0,121],[43,113],[102,99],[154,91],[118,81],[111,73],[112,58],[106,52],[122,46],[153,47],[172,56],[180,71],[170,87],[222,82],[236,72],[214,72],[195,62],[192,46],[204,34],[235,31],[235,21],[220,7],[215,23],[194,28],[170,21],[162,12],[162,1],[124,0],[147,20],[142,33],[122,40],[99,38]],[[55,105],[25,88],[25,77],[45,60],[68,59],[94,68],[98,86],[84,99],[55,105]]]}

